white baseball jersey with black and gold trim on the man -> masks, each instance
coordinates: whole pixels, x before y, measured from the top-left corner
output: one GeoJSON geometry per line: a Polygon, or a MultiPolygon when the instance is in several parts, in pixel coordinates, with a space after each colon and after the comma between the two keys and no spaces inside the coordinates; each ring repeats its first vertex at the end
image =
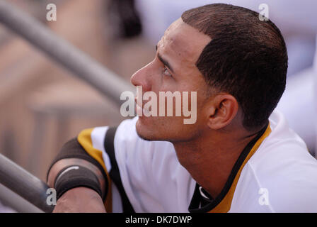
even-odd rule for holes
{"type": "Polygon", "coordinates": [[[139,138],[136,121],[78,136],[107,172],[113,212],[317,212],[317,161],[279,112],[243,150],[216,198],[180,165],[172,143],[139,138]]]}

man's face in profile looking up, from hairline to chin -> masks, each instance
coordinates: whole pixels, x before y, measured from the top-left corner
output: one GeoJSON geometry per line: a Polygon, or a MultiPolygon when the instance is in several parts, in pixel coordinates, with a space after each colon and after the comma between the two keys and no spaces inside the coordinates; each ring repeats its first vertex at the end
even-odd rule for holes
{"type": "MultiPolygon", "coordinates": [[[[181,18],[171,24],[157,44],[156,56],[152,62],[135,72],[131,77],[134,86],[142,86],[145,92],[154,92],[157,96],[158,116],[139,116],[137,133],[146,140],[188,141],[206,127],[204,104],[207,100],[207,84],[195,66],[204,47],[210,42],[208,35],[184,23],[181,18]],[[159,116],[159,92],[188,92],[188,110],[197,111],[197,120],[185,124],[183,102],[181,116],[175,116],[175,99],[173,116],[159,116]],[[192,106],[192,92],[197,92],[197,109],[192,106]],[[195,108],[195,109],[194,109],[195,108]]],[[[139,99],[139,98],[138,98],[139,99]]],[[[183,97],[182,97],[183,100],[183,97]]],[[[141,102],[141,100],[139,100],[141,102]]],[[[143,106],[147,100],[142,101],[143,106]]],[[[167,101],[165,104],[167,112],[167,101]]]]}

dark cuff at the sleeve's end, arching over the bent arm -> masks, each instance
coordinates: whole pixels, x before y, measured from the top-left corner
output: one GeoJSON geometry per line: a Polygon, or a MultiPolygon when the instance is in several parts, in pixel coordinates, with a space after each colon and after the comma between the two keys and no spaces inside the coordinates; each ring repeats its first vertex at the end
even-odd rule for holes
{"type": "Polygon", "coordinates": [[[103,174],[103,178],[105,179],[105,193],[103,194],[104,195],[103,201],[105,201],[105,197],[108,194],[108,188],[109,188],[107,174],[105,173],[105,170],[103,170],[103,167],[99,164],[99,162],[95,160],[93,157],[91,157],[90,155],[88,155],[88,153],[86,153],[86,150],[83,149],[81,144],[78,142],[77,138],[73,138],[63,145],[61,151],[54,158],[52,164],[50,165],[49,170],[47,171],[47,179],[48,179],[48,173],[50,172],[52,166],[59,160],[62,160],[65,158],[80,158],[88,162],[91,162],[91,164],[98,167],[100,172],[102,172],[103,174]]]}

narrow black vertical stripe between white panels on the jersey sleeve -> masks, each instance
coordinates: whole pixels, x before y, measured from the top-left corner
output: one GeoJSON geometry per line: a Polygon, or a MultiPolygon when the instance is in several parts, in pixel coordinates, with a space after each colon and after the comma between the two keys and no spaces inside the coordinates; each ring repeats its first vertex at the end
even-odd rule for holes
{"type": "Polygon", "coordinates": [[[117,166],[117,161],[115,160],[115,131],[117,131],[117,127],[109,128],[107,133],[105,134],[105,152],[108,153],[110,157],[111,170],[109,172],[110,179],[115,183],[117,189],[121,196],[122,201],[122,209],[124,213],[135,213],[132,204],[127,198],[127,194],[125,193],[125,189],[122,185],[119,167],[117,166]]]}

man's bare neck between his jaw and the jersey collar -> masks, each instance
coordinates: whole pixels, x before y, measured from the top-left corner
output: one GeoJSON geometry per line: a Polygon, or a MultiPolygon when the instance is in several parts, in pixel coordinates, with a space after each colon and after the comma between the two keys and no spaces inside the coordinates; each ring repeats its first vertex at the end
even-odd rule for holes
{"type": "MultiPolygon", "coordinates": [[[[202,133],[206,135],[206,133],[202,133]]],[[[200,136],[173,143],[178,160],[193,179],[216,198],[224,188],[236,160],[258,133],[236,132],[200,136]]]]}

